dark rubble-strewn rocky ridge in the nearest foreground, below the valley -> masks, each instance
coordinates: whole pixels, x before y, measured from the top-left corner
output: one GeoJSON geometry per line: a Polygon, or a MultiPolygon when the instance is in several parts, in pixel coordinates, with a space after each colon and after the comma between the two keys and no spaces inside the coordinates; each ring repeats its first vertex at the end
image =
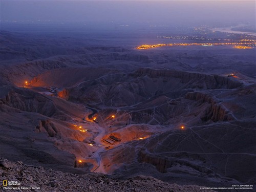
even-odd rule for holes
{"type": "Polygon", "coordinates": [[[71,174],[45,169],[41,166],[11,162],[0,158],[1,191],[168,191],[168,192],[210,192],[213,190],[200,189],[196,185],[169,184],[153,177],[137,176],[128,180],[111,179],[103,174],[71,174]],[[20,185],[7,187],[20,187],[20,189],[4,189],[3,180],[16,181],[20,185]],[[26,189],[21,189],[21,188],[26,189]],[[34,187],[34,188],[33,188],[34,187]]]}

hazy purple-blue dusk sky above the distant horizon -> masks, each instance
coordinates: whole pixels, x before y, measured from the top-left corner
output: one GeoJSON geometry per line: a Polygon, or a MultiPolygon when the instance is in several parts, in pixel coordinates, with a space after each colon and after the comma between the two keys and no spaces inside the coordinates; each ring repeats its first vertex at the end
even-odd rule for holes
{"type": "Polygon", "coordinates": [[[250,22],[255,1],[1,1],[2,21],[250,22]]]}

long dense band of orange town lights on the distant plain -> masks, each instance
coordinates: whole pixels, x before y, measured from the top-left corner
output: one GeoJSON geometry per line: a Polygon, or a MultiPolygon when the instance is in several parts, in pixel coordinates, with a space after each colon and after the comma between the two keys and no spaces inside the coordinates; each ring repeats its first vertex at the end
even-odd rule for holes
{"type": "MultiPolygon", "coordinates": [[[[157,45],[141,45],[136,47],[136,49],[152,49],[157,47],[164,47],[164,46],[222,46],[222,45],[233,45],[233,46],[241,46],[245,47],[245,45],[254,45],[255,42],[206,42],[206,43],[189,43],[189,44],[157,44],[157,45]]],[[[238,48],[237,48],[238,49],[238,48]]]]}

